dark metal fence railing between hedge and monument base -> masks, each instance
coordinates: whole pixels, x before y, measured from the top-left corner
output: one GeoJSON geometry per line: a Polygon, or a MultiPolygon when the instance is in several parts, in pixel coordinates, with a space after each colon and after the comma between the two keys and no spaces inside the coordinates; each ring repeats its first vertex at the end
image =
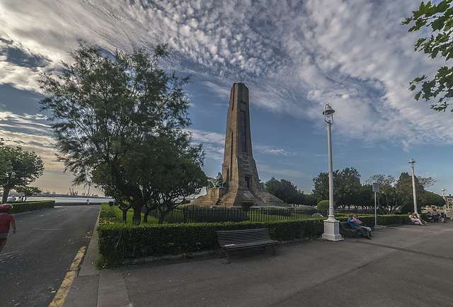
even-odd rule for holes
{"type": "MultiPolygon", "coordinates": [[[[335,209],[335,213],[374,214],[367,209],[335,209]]],[[[159,219],[159,211],[153,210],[150,216],[159,219]]],[[[165,216],[164,221],[170,224],[179,223],[212,223],[222,221],[278,221],[294,219],[310,219],[312,217],[327,217],[328,212],[319,212],[316,208],[251,208],[244,212],[241,208],[226,207],[176,207],[165,216]]]]}

